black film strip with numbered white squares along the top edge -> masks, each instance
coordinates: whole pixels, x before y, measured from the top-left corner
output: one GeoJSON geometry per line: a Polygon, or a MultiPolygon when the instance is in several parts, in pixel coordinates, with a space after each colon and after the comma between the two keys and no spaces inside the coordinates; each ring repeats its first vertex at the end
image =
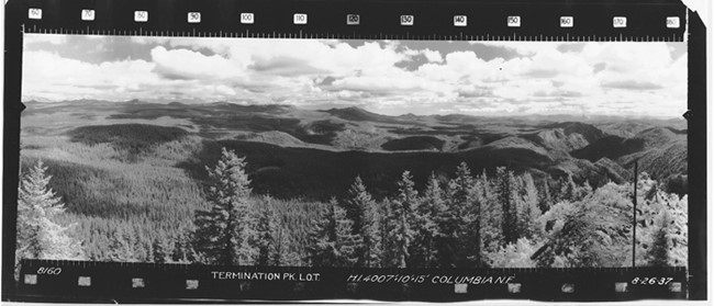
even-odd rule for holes
{"type": "Polygon", "coordinates": [[[23,1],[24,33],[252,38],[682,42],[676,1],[23,1]],[[605,9],[603,9],[605,8],[605,9]]]}

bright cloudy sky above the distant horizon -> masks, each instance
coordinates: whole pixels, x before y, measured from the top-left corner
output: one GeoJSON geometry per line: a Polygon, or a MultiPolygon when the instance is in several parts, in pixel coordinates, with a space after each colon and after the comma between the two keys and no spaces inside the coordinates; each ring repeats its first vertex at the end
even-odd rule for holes
{"type": "Polygon", "coordinates": [[[29,34],[23,101],[77,99],[382,114],[687,110],[685,43],[161,38],[29,34]]]}

